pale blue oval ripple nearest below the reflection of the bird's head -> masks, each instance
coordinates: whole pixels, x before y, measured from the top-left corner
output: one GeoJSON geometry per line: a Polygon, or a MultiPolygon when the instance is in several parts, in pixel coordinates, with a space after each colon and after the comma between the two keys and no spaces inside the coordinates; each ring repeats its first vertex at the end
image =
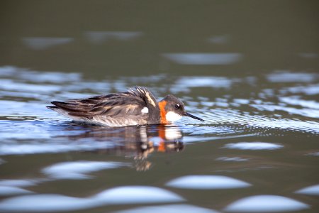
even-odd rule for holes
{"type": "Polygon", "coordinates": [[[251,186],[250,183],[222,175],[188,175],[170,180],[166,185],[193,190],[225,190],[251,186]]]}

